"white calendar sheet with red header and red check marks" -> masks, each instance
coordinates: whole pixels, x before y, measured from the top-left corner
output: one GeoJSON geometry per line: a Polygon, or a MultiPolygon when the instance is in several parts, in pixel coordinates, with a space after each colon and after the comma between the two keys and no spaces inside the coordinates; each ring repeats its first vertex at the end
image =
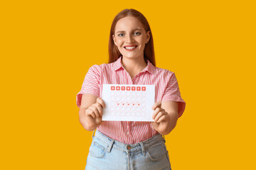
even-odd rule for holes
{"type": "Polygon", "coordinates": [[[154,85],[103,84],[102,120],[154,121],[154,85]]]}

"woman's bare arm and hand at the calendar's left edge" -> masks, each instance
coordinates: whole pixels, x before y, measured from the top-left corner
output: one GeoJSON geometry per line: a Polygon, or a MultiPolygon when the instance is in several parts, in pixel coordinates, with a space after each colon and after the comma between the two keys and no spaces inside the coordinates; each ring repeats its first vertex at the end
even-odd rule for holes
{"type": "Polygon", "coordinates": [[[79,120],[85,130],[95,130],[102,123],[102,108],[104,107],[105,103],[102,98],[91,94],[82,94],[79,120]]]}

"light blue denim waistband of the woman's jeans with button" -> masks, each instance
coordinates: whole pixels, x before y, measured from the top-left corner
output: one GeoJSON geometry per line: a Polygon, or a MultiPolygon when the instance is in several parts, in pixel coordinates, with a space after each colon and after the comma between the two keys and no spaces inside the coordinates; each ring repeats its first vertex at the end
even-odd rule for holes
{"type": "Polygon", "coordinates": [[[102,132],[100,132],[99,130],[96,130],[95,137],[97,137],[97,140],[101,140],[102,142],[105,142],[109,146],[107,152],[110,152],[112,148],[116,148],[122,150],[123,152],[142,151],[142,153],[145,154],[145,149],[147,149],[148,147],[151,147],[152,145],[161,141],[165,142],[163,136],[160,134],[154,135],[149,140],[144,140],[143,142],[139,142],[136,144],[125,144],[123,142],[113,140],[112,138],[102,134],[102,132]]]}

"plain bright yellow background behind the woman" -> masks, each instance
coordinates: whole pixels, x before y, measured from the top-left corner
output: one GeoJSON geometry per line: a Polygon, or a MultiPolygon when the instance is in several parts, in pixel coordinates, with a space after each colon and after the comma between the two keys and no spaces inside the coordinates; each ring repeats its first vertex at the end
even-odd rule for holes
{"type": "Polygon", "coordinates": [[[75,96],[124,8],[148,19],[187,103],[166,136],[172,169],[256,169],[255,4],[198,0],[1,1],[0,169],[85,169],[75,96]]]}

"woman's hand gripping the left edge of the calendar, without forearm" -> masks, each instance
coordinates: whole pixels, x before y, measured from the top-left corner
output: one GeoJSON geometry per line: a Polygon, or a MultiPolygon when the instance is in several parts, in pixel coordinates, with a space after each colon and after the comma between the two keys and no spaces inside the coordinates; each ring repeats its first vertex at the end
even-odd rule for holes
{"type": "Polygon", "coordinates": [[[85,115],[93,118],[98,126],[102,123],[103,108],[105,108],[105,102],[102,98],[97,98],[96,103],[93,103],[85,110],[85,115]]]}

